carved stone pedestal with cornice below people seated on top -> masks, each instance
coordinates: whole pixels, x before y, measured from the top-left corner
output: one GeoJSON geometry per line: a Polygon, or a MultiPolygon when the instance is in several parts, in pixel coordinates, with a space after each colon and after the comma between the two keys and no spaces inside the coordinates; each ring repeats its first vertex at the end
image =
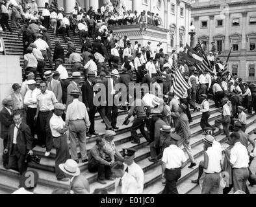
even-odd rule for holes
{"type": "MultiPolygon", "coordinates": [[[[127,25],[125,27],[109,27],[109,30],[113,30],[118,36],[127,36],[134,45],[135,41],[138,41],[142,47],[147,46],[147,42],[151,42],[151,49],[157,48],[157,44],[162,42],[162,49],[164,53],[171,53],[172,51],[167,51],[167,34],[169,30],[164,28],[155,27],[147,25],[147,30],[140,30],[140,25],[127,25]]],[[[153,51],[154,52],[154,51],[153,51]]]]}

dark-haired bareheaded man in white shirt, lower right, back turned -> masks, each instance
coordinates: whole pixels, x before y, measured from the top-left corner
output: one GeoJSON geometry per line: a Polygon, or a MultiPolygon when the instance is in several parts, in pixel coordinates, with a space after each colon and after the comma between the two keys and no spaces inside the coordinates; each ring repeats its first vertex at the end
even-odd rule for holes
{"type": "Polygon", "coordinates": [[[230,151],[226,149],[225,156],[232,166],[232,178],[233,178],[233,188],[234,192],[238,190],[246,191],[246,182],[249,177],[249,156],[248,149],[241,144],[239,133],[232,133],[230,135],[233,148],[230,151]]]}

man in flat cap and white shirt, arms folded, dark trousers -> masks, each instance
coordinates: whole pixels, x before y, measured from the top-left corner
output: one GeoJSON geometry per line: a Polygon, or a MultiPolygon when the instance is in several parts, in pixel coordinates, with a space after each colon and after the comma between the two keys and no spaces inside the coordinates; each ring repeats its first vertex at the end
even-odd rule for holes
{"type": "Polygon", "coordinates": [[[57,180],[68,181],[64,173],[60,170],[59,164],[66,162],[70,158],[70,149],[68,147],[66,131],[66,123],[62,120],[61,116],[66,110],[62,103],[55,103],[55,111],[50,120],[51,135],[53,136],[53,146],[56,149],[55,156],[55,174],[57,180]]]}

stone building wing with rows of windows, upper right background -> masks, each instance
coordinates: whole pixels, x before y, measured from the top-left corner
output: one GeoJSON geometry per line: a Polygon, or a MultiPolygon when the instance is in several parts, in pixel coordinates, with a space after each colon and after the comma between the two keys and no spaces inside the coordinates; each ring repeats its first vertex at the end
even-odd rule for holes
{"type": "Polygon", "coordinates": [[[232,47],[229,71],[244,81],[255,82],[256,65],[256,1],[196,0],[192,3],[195,42],[202,40],[211,50],[215,41],[222,59],[232,47]]]}

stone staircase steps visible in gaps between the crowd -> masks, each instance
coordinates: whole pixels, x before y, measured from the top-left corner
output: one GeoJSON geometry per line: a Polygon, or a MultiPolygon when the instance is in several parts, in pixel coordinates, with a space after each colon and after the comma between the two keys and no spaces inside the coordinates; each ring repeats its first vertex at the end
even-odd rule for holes
{"type": "MultiPolygon", "coordinates": [[[[50,32],[51,34],[51,32],[50,32]]],[[[12,36],[10,34],[3,35],[5,39],[6,52],[7,54],[19,55],[21,57],[21,65],[23,64],[22,58],[22,43],[21,39],[16,37],[16,33],[12,36]]],[[[55,39],[55,37],[51,34],[51,38],[55,39]]],[[[80,49],[81,45],[79,45],[79,38],[72,38],[75,41],[75,44],[80,49]]],[[[65,46],[64,41],[62,41],[62,45],[65,46]]],[[[54,47],[54,45],[53,45],[54,47]]],[[[66,48],[66,46],[65,46],[66,48]]],[[[71,67],[69,64],[65,64],[65,66],[70,71],[71,67]]],[[[210,101],[211,105],[211,117],[209,118],[209,123],[214,125],[214,120],[216,118],[220,118],[221,114],[218,113],[217,109],[214,107],[214,103],[210,101]]],[[[135,162],[140,165],[140,167],[144,170],[145,180],[144,180],[144,192],[143,194],[158,194],[161,193],[164,189],[162,185],[161,179],[161,162],[153,163],[149,162],[148,158],[150,156],[149,146],[145,138],[141,138],[140,144],[131,144],[131,124],[127,126],[123,126],[123,120],[127,111],[120,111],[118,116],[118,131],[116,131],[116,136],[114,138],[116,147],[119,151],[122,151],[123,148],[132,147],[136,149],[136,157],[135,162]]],[[[96,132],[99,133],[98,136],[103,136],[105,134],[105,124],[101,123],[101,119],[98,115],[96,115],[96,132]]],[[[201,112],[192,113],[193,122],[190,124],[190,129],[192,133],[192,138],[190,140],[190,144],[192,146],[192,153],[196,159],[197,164],[201,160],[203,160],[203,139],[202,139],[202,130],[199,125],[201,119],[201,112]]],[[[254,125],[255,116],[248,115],[248,129],[247,132],[250,133],[255,128],[254,125]]],[[[139,133],[139,132],[138,132],[139,133]]],[[[141,135],[140,135],[141,136],[141,135]]],[[[87,138],[86,140],[86,148],[89,151],[95,144],[97,136],[92,136],[91,138],[87,138]]],[[[222,143],[222,147],[228,147],[225,144],[226,138],[225,136],[221,136],[220,133],[216,135],[216,140],[222,143]]],[[[69,142],[69,141],[68,141],[69,142]]],[[[184,147],[181,146],[181,149],[185,151],[184,147]]],[[[42,157],[40,165],[31,163],[29,165],[29,169],[36,169],[38,171],[40,179],[38,182],[38,186],[36,187],[35,193],[37,194],[49,194],[56,188],[69,188],[69,182],[59,182],[55,177],[55,149],[51,151],[51,155],[49,157],[44,157],[44,149],[41,147],[34,147],[33,149],[36,155],[42,157]]],[[[79,147],[77,147],[77,151],[79,151],[79,147]]],[[[186,153],[185,153],[186,155],[186,153]]],[[[186,155],[187,161],[186,165],[181,171],[182,177],[178,181],[178,191],[180,194],[192,193],[198,187],[196,184],[192,184],[191,180],[196,179],[198,168],[189,169],[188,164],[189,160],[186,155]]],[[[107,184],[102,185],[97,182],[97,173],[90,173],[88,171],[88,163],[79,164],[79,168],[81,169],[81,174],[84,175],[90,182],[90,192],[94,192],[97,188],[105,188],[109,191],[109,193],[114,193],[114,181],[107,181],[107,184]]],[[[3,166],[0,166],[0,194],[1,193],[11,193],[14,190],[18,189],[19,185],[19,175],[16,171],[6,170],[3,166]]]]}

